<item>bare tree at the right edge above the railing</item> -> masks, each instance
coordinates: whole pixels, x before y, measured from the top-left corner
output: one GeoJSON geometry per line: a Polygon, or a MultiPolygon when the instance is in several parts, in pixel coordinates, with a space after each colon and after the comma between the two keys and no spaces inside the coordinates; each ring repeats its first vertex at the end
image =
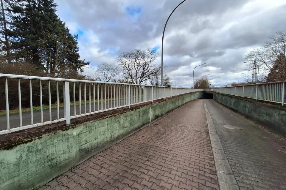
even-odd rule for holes
{"type": "MultiPolygon", "coordinates": [[[[246,56],[246,59],[250,62],[256,61],[261,70],[271,72],[272,76],[276,79],[283,79],[280,72],[276,72],[279,68],[273,69],[273,64],[279,58],[279,56],[285,56],[286,54],[286,32],[276,32],[276,35],[268,37],[270,41],[263,44],[261,48],[252,50],[246,56]]],[[[252,64],[251,64],[252,66],[252,64]]],[[[285,66],[281,64],[284,69],[285,66]]],[[[251,68],[250,68],[251,69],[251,68]]]]}

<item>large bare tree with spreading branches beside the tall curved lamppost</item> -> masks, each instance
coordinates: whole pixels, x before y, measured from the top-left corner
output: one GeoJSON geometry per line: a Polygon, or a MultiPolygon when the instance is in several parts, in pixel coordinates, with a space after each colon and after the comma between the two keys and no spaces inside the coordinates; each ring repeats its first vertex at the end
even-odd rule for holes
{"type": "Polygon", "coordinates": [[[161,66],[156,65],[154,61],[158,53],[151,48],[147,50],[132,50],[122,53],[117,62],[125,78],[133,84],[142,84],[152,79],[161,70],[161,66]]]}

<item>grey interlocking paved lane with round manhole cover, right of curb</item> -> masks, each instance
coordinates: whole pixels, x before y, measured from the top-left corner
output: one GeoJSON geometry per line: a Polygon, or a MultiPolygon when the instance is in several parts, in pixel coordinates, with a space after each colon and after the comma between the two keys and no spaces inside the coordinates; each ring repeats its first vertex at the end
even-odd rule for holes
{"type": "Polygon", "coordinates": [[[213,100],[206,105],[240,190],[286,189],[286,141],[213,100]]]}

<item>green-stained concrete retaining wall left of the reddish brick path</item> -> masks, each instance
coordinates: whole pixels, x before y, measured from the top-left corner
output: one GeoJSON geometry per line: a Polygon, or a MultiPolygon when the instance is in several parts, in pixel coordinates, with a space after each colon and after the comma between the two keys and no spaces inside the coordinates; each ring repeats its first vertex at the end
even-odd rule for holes
{"type": "Polygon", "coordinates": [[[203,91],[192,92],[44,134],[9,150],[1,149],[0,189],[25,190],[41,186],[181,105],[202,97],[203,91]]]}

